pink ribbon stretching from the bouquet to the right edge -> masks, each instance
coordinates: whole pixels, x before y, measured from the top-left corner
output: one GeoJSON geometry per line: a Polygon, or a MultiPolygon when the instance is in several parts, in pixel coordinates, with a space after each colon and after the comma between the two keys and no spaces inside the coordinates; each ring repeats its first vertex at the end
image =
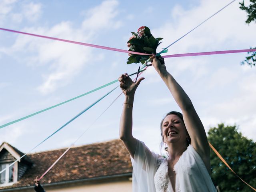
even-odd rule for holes
{"type": "Polygon", "coordinates": [[[210,51],[210,52],[199,52],[199,53],[183,53],[174,55],[165,55],[164,58],[168,57],[188,57],[188,56],[200,56],[200,55],[216,55],[216,54],[227,54],[227,53],[242,53],[242,52],[254,52],[256,49],[240,49],[240,50],[226,50],[226,51],[210,51]]]}

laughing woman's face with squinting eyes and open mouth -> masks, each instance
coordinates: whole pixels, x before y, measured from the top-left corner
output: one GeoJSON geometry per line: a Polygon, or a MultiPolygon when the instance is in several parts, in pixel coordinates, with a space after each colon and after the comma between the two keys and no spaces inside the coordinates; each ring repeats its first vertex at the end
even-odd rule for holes
{"type": "Polygon", "coordinates": [[[174,114],[164,118],[162,131],[165,143],[186,142],[188,137],[183,121],[174,114]]]}

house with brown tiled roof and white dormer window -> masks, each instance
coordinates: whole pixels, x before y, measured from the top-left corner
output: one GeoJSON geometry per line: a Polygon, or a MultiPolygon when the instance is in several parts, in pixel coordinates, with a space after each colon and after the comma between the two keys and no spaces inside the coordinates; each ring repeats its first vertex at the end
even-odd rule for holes
{"type": "MultiPolygon", "coordinates": [[[[66,150],[28,154],[0,174],[0,192],[32,192],[40,177],[66,150]]],[[[24,153],[3,142],[0,145],[0,170],[24,153]]],[[[132,164],[121,140],[76,146],[40,180],[46,192],[130,192],[132,164]]]]}

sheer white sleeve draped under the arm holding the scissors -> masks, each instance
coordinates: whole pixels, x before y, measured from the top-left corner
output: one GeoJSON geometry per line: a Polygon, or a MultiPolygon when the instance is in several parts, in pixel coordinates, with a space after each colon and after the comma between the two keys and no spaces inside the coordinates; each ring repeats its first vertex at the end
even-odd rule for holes
{"type": "MultiPolygon", "coordinates": [[[[137,139],[136,139],[137,140],[137,139]]],[[[151,152],[144,142],[137,140],[134,159],[132,160],[132,191],[155,192],[154,174],[158,154],[151,152]]]]}

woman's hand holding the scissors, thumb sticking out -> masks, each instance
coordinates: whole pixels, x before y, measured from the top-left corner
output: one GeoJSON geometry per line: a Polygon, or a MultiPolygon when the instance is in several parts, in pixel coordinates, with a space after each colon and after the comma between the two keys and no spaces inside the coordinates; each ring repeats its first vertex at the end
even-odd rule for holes
{"type": "Polygon", "coordinates": [[[132,79],[128,76],[128,74],[125,73],[118,78],[118,81],[120,82],[120,88],[125,96],[134,96],[138,85],[144,79],[145,78],[142,77],[139,78],[136,82],[133,82],[132,79]]]}

